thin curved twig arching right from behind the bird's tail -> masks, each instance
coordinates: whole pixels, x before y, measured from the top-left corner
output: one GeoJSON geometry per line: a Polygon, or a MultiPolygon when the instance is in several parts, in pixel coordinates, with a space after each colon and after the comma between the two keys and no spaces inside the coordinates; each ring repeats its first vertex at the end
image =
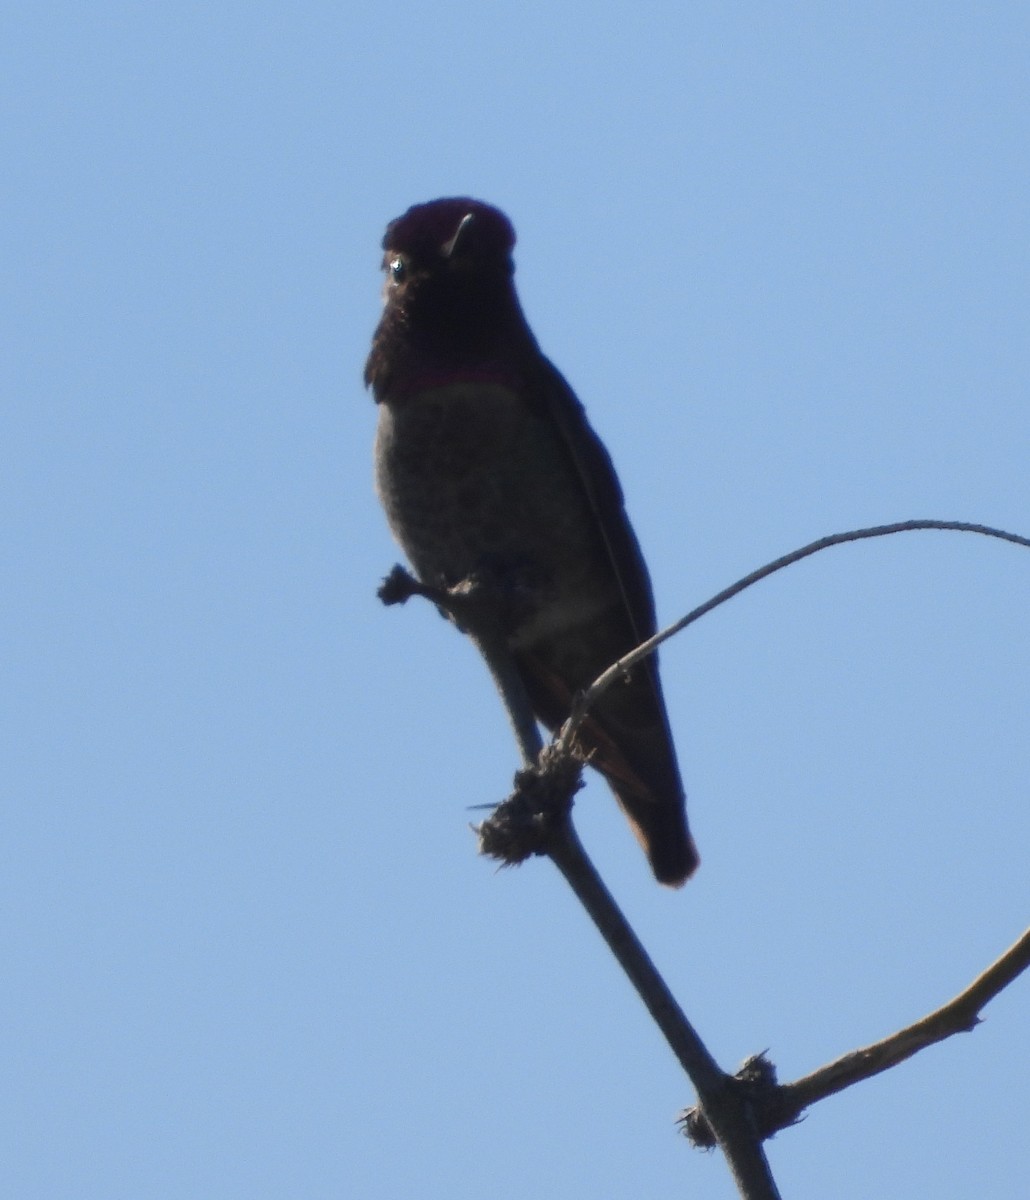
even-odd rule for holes
{"type": "Polygon", "coordinates": [[[576,732],[586,720],[587,713],[591,710],[593,704],[597,703],[598,697],[607,691],[616,679],[622,678],[630,667],[635,666],[642,659],[646,659],[648,654],[653,654],[663,642],[669,641],[670,637],[673,637],[688,625],[693,625],[695,620],[700,620],[701,617],[709,613],[713,608],[718,608],[719,605],[725,604],[727,600],[732,600],[735,595],[738,595],[745,588],[751,587],[751,584],[783,570],[785,566],[792,566],[795,563],[800,563],[803,558],[809,558],[820,550],[828,550],[831,546],[840,546],[846,541],[863,541],[867,538],[884,538],[888,534],[910,533],[917,529],[944,529],[953,533],[978,533],[984,538],[1000,538],[1002,541],[1011,541],[1017,546],[1030,547],[1030,538],[1024,538],[1018,533],[1007,533],[1005,529],[995,529],[992,526],[971,524],[968,521],[897,521],[893,524],[870,526],[867,529],[850,529],[846,533],[832,533],[826,538],[820,538],[818,541],[810,541],[807,546],[802,546],[801,550],[794,550],[789,554],[784,554],[782,558],[777,558],[772,563],[766,563],[765,566],[760,566],[756,571],[751,571],[750,575],[745,575],[742,580],[737,580],[736,583],[724,588],[718,593],[718,595],[712,596],[711,600],[706,600],[705,604],[693,608],[685,617],[681,617],[679,620],[673,622],[667,629],[660,630],[654,635],[654,637],[649,637],[646,642],[641,642],[635,650],[630,650],[629,654],[624,654],[617,662],[613,662],[603,674],[594,679],[586,691],[576,698],[573,704],[573,712],[558,734],[557,744],[559,746],[568,746],[571,744],[576,732]]]}

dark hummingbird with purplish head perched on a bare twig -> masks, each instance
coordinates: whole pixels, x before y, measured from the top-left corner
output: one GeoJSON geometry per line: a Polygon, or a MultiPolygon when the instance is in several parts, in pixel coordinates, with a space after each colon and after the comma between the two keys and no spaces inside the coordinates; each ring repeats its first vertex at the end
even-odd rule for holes
{"type": "MultiPolygon", "coordinates": [[[[379,407],[376,484],[419,578],[489,577],[537,719],[654,632],[651,581],[611,460],[540,353],[513,282],[515,230],[497,209],[417,204],[387,228],[383,316],[365,366],[379,407]]],[[[697,865],[652,655],[600,698],[580,740],[655,877],[697,865]]]]}

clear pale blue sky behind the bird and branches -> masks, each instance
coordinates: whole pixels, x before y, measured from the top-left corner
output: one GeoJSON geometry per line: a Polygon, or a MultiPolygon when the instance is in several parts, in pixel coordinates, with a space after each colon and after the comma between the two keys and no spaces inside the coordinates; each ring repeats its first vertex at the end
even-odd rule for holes
{"type": "MultiPolygon", "coordinates": [[[[35,4],[0,26],[0,1194],[735,1195],[396,560],[379,239],[469,193],[671,620],[822,534],[1030,532],[1025,4],[35,4]]],[[[969,983],[1030,908],[1030,552],[838,548],[671,643],[703,858],[582,836],[727,1068],[969,983]]],[[[1023,1198],[1030,979],[769,1145],[1023,1198]]]]}

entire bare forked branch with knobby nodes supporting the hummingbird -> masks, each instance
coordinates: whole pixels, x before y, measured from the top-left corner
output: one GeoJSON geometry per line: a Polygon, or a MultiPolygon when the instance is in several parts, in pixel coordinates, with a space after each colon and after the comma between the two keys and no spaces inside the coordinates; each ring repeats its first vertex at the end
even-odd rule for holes
{"type": "Polygon", "coordinates": [[[490,580],[466,580],[456,588],[441,590],[419,583],[402,568],[394,568],[379,589],[384,604],[425,596],[477,642],[501,689],[526,764],[516,775],[513,796],[479,827],[480,848],[509,863],[533,853],[551,858],[697,1090],[699,1105],[683,1115],[688,1135],[695,1145],[721,1147],[744,1200],[779,1200],[761,1145],[765,1138],[796,1123],[802,1111],[816,1100],[887,1070],[952,1033],[974,1028],[981,1008],[1030,964],[1030,930],[948,1004],[875,1045],[783,1086],[777,1084],[776,1068],[763,1055],[748,1060],[737,1075],[727,1075],[687,1020],[576,835],[571,823],[571,798],[580,786],[575,736],[591,706],[617,678],[661,642],[739,592],[820,550],[917,529],[978,533],[1030,547],[1030,539],[1019,534],[959,521],[903,521],[820,538],[738,580],[619,659],[577,698],[553,745],[543,752],[539,727],[503,634],[504,610],[498,608],[498,593],[490,580]]]}

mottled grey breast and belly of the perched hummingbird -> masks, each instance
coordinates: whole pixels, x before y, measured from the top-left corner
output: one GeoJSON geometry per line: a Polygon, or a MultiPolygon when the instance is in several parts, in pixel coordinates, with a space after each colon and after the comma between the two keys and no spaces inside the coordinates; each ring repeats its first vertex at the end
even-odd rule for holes
{"type": "Polygon", "coordinates": [[[376,485],[423,580],[486,575],[520,593],[519,642],[589,619],[618,592],[561,432],[515,388],[460,382],[381,402],[376,485]]]}

